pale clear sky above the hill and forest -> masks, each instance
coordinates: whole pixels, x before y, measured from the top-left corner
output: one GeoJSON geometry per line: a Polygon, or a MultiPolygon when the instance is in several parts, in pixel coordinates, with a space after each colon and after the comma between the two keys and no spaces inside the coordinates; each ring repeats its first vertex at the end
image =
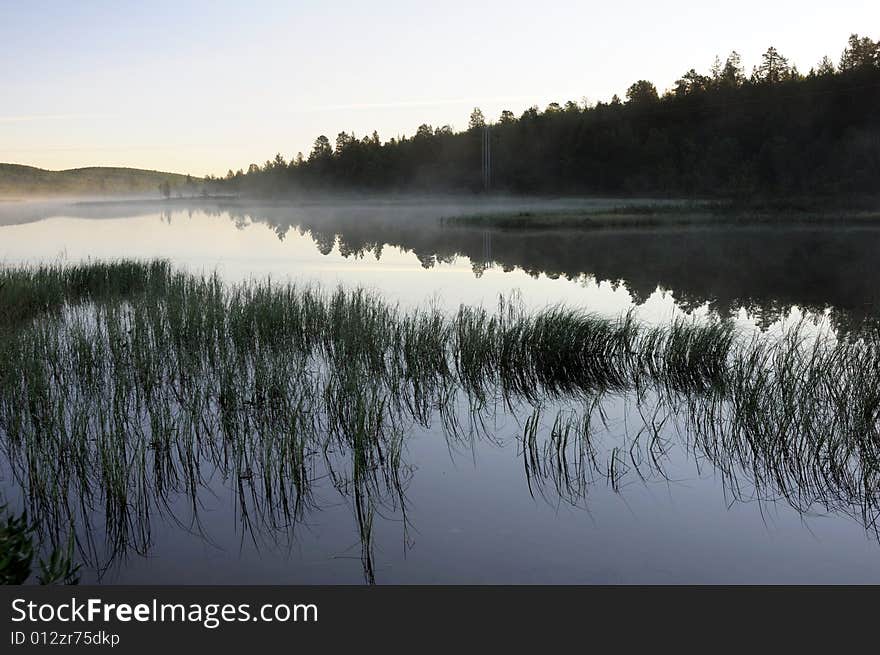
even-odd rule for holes
{"type": "Polygon", "coordinates": [[[877,0],[0,0],[0,162],[225,174],[319,134],[382,140],[774,45],[802,72],[880,38],[877,0]]]}

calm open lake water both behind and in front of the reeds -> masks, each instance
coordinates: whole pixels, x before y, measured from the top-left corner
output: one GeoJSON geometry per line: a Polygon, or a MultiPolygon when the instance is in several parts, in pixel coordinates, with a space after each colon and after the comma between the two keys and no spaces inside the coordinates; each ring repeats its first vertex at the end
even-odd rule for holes
{"type": "MultiPolygon", "coordinates": [[[[165,257],[233,281],[271,275],[369,287],[407,307],[494,305],[517,294],[529,307],[634,310],[650,322],[721,315],[769,335],[803,319],[857,332],[880,307],[880,230],[513,232],[440,220],[475,209],[482,207],[7,206],[0,261],[165,257]]],[[[213,478],[196,512],[178,499],[151,514],[146,552],[105,549],[95,562],[101,569],[88,568],[84,581],[880,581],[880,543],[857,511],[826,510],[820,499],[796,511],[772,488],[755,487],[753,472],[722,474],[671,424],[662,467],[639,466],[644,458],[630,455],[643,425],[634,400],[608,399],[603,409],[598,460],[615,448],[628,453],[614,484],[604,464],[561,487],[552,476],[527,475],[525,417],[517,412],[494,413],[467,442],[448,441],[437,421],[408,435],[401,493],[373,499],[366,548],[355,501],[330,484],[316,486],[315,507],[301,520],[279,526],[261,520],[256,501],[253,513],[242,513],[238,481],[213,478]]],[[[20,503],[8,466],[3,475],[6,497],[20,503]]],[[[99,518],[95,526],[100,533],[99,518]]]]}

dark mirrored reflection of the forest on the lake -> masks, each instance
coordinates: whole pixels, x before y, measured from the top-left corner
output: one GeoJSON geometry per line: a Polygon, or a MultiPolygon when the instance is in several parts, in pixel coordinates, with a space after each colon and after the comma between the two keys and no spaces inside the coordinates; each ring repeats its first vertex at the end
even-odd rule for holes
{"type": "MultiPolygon", "coordinates": [[[[467,257],[476,278],[487,270],[551,280],[620,285],[636,305],[658,288],[685,312],[707,306],[722,317],[741,309],[768,327],[793,307],[833,310],[839,327],[876,314],[880,229],[719,227],[633,230],[470,230],[442,223],[364,217],[235,214],[238,225],[265,223],[284,239],[309,234],[323,254],[381,259],[388,245],[411,251],[430,270],[467,257]]],[[[555,299],[551,299],[555,300],[555,299]]]]}

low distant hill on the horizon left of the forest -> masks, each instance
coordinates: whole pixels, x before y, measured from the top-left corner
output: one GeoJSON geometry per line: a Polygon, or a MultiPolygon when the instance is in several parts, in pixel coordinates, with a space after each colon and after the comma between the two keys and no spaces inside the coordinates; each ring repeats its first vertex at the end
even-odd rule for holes
{"type": "Polygon", "coordinates": [[[171,195],[192,195],[200,190],[201,178],[138,168],[93,166],[66,171],[47,171],[33,166],[0,164],[0,197],[155,195],[168,182],[171,195]]]}

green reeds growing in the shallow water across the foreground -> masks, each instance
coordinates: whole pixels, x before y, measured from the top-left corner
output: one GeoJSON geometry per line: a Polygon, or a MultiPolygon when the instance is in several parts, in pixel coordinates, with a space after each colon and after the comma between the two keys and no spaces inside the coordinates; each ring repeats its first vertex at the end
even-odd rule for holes
{"type": "Polygon", "coordinates": [[[151,516],[179,498],[197,512],[218,474],[253,535],[293,529],[329,481],[351,502],[371,580],[374,514],[406,516],[406,436],[439,417],[467,439],[498,407],[528,417],[533,492],[578,502],[596,477],[662,474],[675,424],[731,488],[746,474],[767,496],[873,527],[878,382],[876,334],[768,342],[724,322],[650,327],[506,299],[405,312],[364,290],[227,285],[161,261],[0,269],[8,466],[47,538],[75,534],[93,560],[102,533],[111,553],[146,552],[151,516]],[[643,425],[602,461],[597,421],[620,395],[643,425]]]}

